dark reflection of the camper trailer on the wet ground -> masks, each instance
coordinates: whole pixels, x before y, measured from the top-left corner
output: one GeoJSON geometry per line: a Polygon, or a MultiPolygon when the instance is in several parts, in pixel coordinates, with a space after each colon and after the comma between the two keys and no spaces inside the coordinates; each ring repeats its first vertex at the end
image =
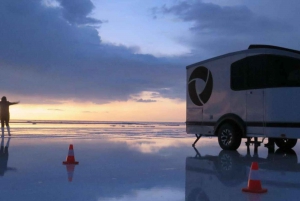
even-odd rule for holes
{"type": "Polygon", "coordinates": [[[298,200],[300,196],[300,164],[294,150],[269,149],[266,158],[222,150],[217,156],[195,149],[195,156],[186,159],[185,200],[298,200]],[[261,182],[269,192],[263,195],[244,193],[252,162],[258,162],[261,182]]]}

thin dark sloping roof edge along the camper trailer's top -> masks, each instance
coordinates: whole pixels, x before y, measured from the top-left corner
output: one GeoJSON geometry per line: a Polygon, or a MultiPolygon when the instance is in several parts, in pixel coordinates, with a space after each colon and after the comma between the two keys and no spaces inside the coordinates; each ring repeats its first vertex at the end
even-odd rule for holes
{"type": "Polygon", "coordinates": [[[232,56],[232,55],[236,55],[236,54],[240,54],[240,53],[246,53],[249,50],[258,50],[258,49],[281,50],[281,51],[287,51],[287,52],[296,53],[296,54],[300,55],[300,51],[298,51],[298,50],[293,50],[293,49],[288,49],[288,48],[279,47],[279,46],[273,46],[273,45],[252,44],[252,45],[249,45],[248,49],[246,49],[246,50],[240,50],[240,51],[237,51],[237,52],[231,52],[231,53],[227,53],[227,54],[220,55],[220,56],[217,56],[217,57],[213,57],[213,58],[210,58],[210,59],[206,59],[206,60],[203,60],[203,61],[191,64],[191,65],[188,65],[186,68],[187,69],[188,68],[192,68],[192,67],[195,67],[195,66],[199,66],[202,63],[206,63],[206,62],[209,62],[209,61],[221,59],[221,58],[224,58],[224,57],[228,57],[228,56],[232,56]]]}

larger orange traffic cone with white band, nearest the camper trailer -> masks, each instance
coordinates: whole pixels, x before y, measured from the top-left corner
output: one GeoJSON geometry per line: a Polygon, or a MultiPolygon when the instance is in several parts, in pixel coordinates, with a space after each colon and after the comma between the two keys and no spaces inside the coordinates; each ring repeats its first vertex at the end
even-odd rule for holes
{"type": "Polygon", "coordinates": [[[261,187],[257,162],[252,162],[248,178],[248,187],[243,188],[242,191],[249,193],[266,193],[268,191],[267,189],[261,187]]]}

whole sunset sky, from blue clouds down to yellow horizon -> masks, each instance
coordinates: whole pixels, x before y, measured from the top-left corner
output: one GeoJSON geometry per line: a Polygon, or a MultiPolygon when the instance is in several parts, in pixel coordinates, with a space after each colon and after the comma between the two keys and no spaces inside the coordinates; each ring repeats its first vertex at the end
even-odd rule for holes
{"type": "Polygon", "coordinates": [[[2,0],[11,119],[185,121],[189,64],[250,44],[300,50],[296,0],[2,0]]]}

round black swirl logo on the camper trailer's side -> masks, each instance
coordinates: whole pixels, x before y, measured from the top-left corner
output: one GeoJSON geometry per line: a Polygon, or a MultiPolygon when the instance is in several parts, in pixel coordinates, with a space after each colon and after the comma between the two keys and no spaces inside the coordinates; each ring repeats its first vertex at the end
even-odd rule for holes
{"type": "Polygon", "coordinates": [[[190,78],[189,78],[189,95],[192,102],[195,105],[202,106],[204,105],[210,98],[213,89],[213,78],[210,70],[205,68],[204,66],[200,66],[196,68],[190,78]],[[197,92],[197,80],[203,80],[205,82],[205,87],[201,93],[197,92]],[[199,93],[199,94],[198,94],[199,93]]]}

